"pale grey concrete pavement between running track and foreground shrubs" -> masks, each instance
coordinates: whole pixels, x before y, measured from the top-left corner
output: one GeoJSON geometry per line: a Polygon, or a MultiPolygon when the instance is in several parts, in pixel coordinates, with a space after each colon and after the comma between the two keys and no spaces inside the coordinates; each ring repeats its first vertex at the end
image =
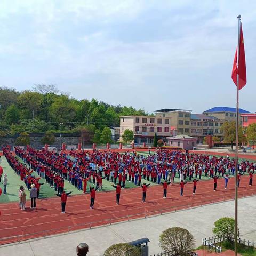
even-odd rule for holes
{"type": "MultiPolygon", "coordinates": [[[[241,237],[256,240],[256,197],[239,199],[239,228],[241,237]]],[[[78,231],[72,234],[38,239],[17,245],[0,247],[0,255],[8,256],[75,256],[76,245],[81,242],[89,244],[87,256],[100,256],[112,244],[130,242],[148,237],[150,254],[161,252],[158,236],[169,227],[184,227],[201,245],[202,238],[212,236],[214,221],[221,217],[234,217],[234,201],[207,205],[195,209],[169,213],[147,219],[117,223],[111,226],[78,231]]]]}

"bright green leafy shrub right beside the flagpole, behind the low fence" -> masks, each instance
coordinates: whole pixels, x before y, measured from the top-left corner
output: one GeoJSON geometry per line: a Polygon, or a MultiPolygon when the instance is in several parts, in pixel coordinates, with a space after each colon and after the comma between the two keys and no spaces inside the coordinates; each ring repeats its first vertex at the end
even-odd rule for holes
{"type": "Polygon", "coordinates": [[[224,217],[214,222],[213,233],[218,237],[223,237],[231,242],[235,235],[235,220],[233,218],[224,217]]]}

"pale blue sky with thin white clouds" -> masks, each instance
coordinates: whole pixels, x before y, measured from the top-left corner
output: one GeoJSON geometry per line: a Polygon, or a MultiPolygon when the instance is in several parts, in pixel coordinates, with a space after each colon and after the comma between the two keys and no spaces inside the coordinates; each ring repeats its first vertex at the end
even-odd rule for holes
{"type": "Polygon", "coordinates": [[[0,86],[56,84],[76,99],[190,109],[236,107],[231,69],[242,26],[255,107],[256,1],[1,0],[0,86]]]}

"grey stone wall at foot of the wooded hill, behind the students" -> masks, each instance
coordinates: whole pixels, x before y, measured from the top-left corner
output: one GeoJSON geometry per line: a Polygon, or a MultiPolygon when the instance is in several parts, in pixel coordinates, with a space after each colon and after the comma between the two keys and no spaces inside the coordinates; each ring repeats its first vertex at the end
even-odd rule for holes
{"type": "MultiPolygon", "coordinates": [[[[61,148],[61,144],[65,143],[66,145],[78,145],[78,143],[81,142],[81,135],[80,134],[54,134],[55,135],[55,143],[54,147],[61,148]]],[[[44,134],[29,134],[30,137],[30,146],[39,149],[42,148],[44,145],[41,142],[42,137],[44,134]]],[[[0,137],[0,148],[6,145],[10,146],[17,146],[15,141],[19,135],[13,135],[13,136],[5,136],[5,137],[0,137]]]]}

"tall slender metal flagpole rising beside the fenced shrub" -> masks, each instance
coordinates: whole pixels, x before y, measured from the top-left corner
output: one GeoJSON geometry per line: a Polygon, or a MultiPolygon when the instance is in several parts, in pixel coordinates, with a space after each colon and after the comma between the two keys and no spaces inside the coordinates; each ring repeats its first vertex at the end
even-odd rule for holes
{"type": "MultiPolygon", "coordinates": [[[[238,70],[238,65],[239,65],[239,50],[240,50],[240,28],[241,28],[241,15],[238,15],[237,17],[238,19],[238,42],[237,42],[237,62],[236,62],[236,65],[237,65],[237,69],[238,70]]],[[[237,72],[237,75],[236,75],[236,81],[237,81],[237,84],[236,84],[236,161],[235,161],[235,175],[236,175],[236,178],[235,178],[235,256],[237,256],[237,233],[238,233],[238,214],[237,214],[237,207],[238,207],[238,201],[237,201],[237,174],[238,174],[238,168],[237,168],[237,164],[238,164],[238,121],[239,121],[239,74],[237,72]]]]}

